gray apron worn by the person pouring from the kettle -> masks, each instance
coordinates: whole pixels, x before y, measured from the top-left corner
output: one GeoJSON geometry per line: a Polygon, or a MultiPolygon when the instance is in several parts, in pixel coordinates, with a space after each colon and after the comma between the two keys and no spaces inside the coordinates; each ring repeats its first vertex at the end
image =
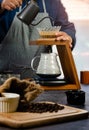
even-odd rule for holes
{"type": "MultiPolygon", "coordinates": [[[[33,21],[34,24],[48,16],[44,0],[42,2],[44,12],[38,13],[33,21]]],[[[31,60],[41,52],[46,52],[47,48],[46,46],[29,45],[29,42],[39,37],[37,28],[49,26],[51,26],[50,19],[43,20],[37,26],[28,27],[15,16],[6,37],[0,44],[0,72],[9,70],[13,73],[20,73],[21,78],[34,77],[35,73],[30,66],[31,60]]]]}

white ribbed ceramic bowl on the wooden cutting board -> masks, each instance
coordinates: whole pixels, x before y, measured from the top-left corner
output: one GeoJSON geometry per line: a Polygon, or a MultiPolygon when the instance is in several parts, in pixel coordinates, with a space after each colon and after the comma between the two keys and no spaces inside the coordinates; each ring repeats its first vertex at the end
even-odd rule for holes
{"type": "Polygon", "coordinates": [[[17,110],[20,95],[16,93],[2,93],[0,97],[0,112],[15,112],[17,110]]]}

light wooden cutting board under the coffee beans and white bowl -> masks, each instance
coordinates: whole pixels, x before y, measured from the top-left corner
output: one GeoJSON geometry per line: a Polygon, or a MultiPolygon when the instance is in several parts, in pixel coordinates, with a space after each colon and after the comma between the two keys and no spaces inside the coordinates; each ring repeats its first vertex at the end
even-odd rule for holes
{"type": "Polygon", "coordinates": [[[0,124],[12,128],[26,128],[88,118],[88,111],[86,110],[66,105],[64,107],[65,108],[63,110],[52,113],[1,113],[0,124]]]}

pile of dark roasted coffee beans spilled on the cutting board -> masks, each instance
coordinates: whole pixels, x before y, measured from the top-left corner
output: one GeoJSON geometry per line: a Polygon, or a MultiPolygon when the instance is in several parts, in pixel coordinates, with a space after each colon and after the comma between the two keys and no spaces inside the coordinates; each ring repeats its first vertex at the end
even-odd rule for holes
{"type": "Polygon", "coordinates": [[[32,112],[32,113],[43,113],[43,112],[58,112],[59,110],[63,110],[64,106],[59,105],[57,103],[30,103],[23,104],[21,107],[22,111],[32,112]]]}

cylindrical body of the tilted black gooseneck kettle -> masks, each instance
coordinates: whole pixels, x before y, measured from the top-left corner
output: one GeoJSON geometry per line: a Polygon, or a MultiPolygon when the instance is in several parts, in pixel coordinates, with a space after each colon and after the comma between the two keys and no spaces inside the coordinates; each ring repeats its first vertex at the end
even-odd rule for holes
{"type": "Polygon", "coordinates": [[[25,24],[30,25],[36,15],[39,12],[39,6],[37,5],[36,0],[31,0],[30,3],[26,1],[26,6],[23,10],[17,15],[17,17],[25,24]]]}

